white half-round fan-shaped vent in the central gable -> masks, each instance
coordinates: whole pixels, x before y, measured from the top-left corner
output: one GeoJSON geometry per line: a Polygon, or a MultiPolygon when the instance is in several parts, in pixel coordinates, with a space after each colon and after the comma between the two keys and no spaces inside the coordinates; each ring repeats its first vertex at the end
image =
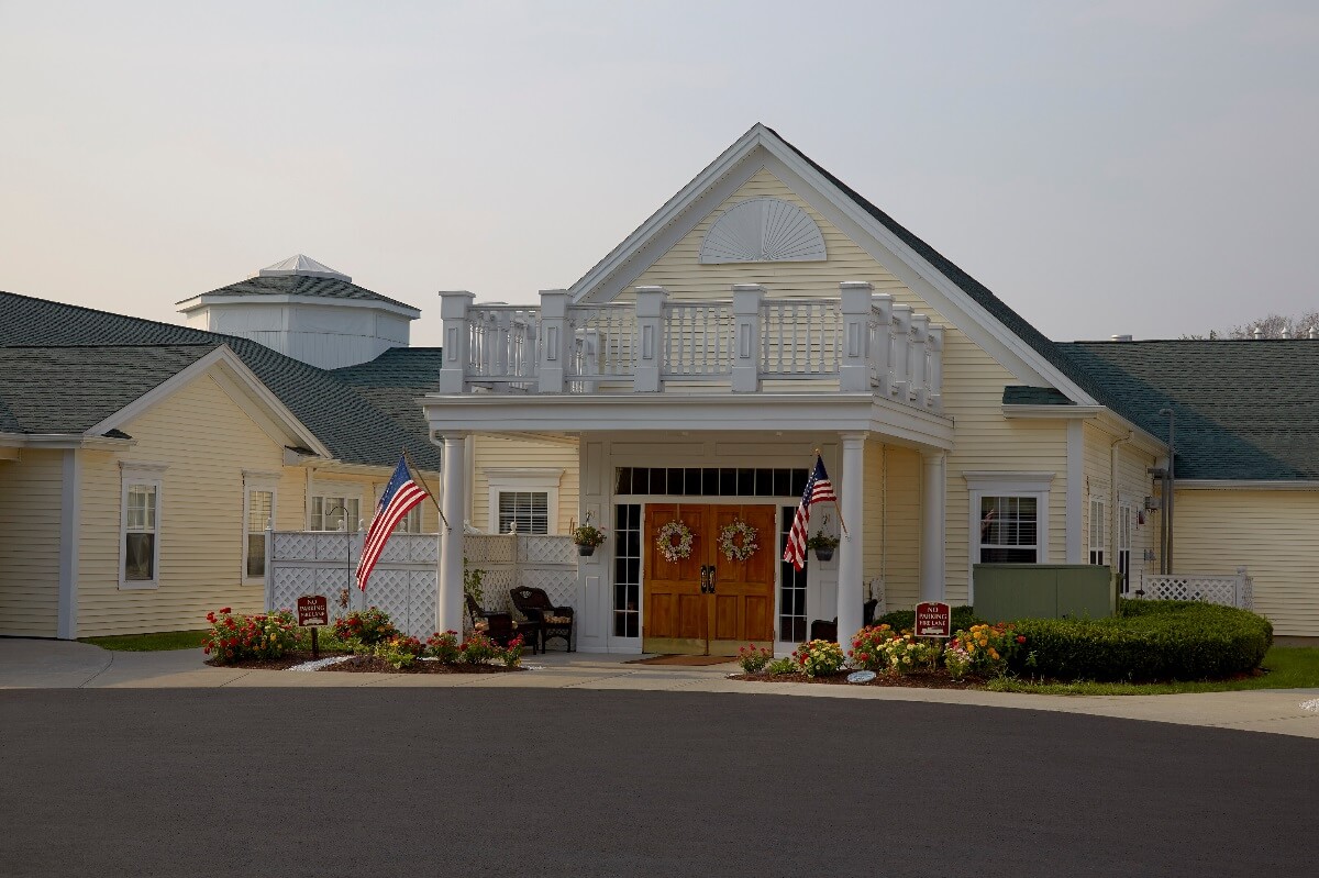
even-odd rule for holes
{"type": "Polygon", "coordinates": [[[818,262],[824,236],[806,211],[781,198],[752,198],[729,207],[706,232],[702,264],[818,262]]]}

